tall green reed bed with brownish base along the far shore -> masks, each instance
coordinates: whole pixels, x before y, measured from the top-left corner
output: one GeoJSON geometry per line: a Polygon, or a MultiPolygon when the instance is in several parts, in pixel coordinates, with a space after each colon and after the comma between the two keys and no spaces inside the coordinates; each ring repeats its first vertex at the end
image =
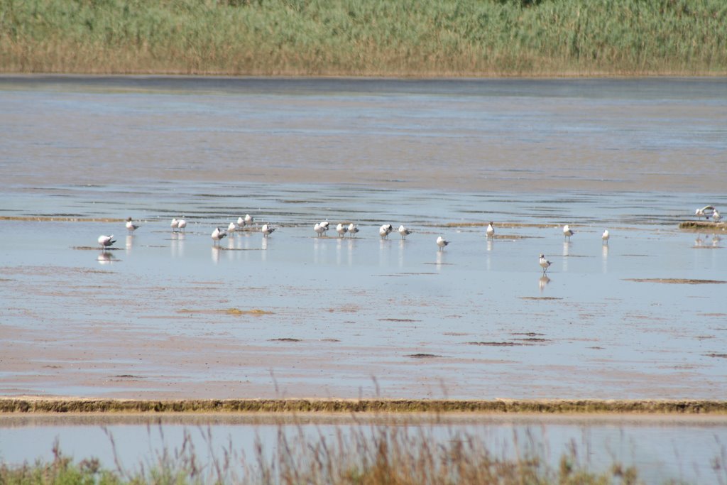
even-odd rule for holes
{"type": "Polygon", "coordinates": [[[6,73],[726,75],[723,0],[0,0],[6,73]]]}

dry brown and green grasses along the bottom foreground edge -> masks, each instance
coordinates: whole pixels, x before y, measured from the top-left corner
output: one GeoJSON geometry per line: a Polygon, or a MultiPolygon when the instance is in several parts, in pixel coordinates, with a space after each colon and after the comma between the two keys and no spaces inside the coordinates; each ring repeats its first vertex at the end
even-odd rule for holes
{"type": "MultiPolygon", "coordinates": [[[[201,462],[188,434],[174,452],[160,452],[133,470],[118,457],[115,468],[99,460],[74,462],[55,446],[50,462],[0,464],[0,484],[309,484],[309,485],[436,485],[436,484],[640,484],[635,468],[618,463],[590,471],[579,464],[577,450],[563,454],[558,466],[547,465],[533,448],[522,447],[515,459],[498,457],[474,436],[450,433],[433,438],[427,430],[379,426],[371,433],[286,438],[278,432],[274,452],[260,440],[251,460],[228,449],[224,456],[201,462]]],[[[113,441],[113,437],[111,438],[113,441]]]]}

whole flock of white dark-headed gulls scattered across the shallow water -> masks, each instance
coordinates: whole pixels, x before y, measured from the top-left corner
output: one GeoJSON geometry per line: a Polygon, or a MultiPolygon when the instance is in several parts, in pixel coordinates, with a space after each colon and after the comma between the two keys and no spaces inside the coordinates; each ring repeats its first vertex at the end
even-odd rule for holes
{"type": "MultiPolygon", "coordinates": [[[[719,211],[714,206],[704,206],[701,209],[696,209],[694,214],[697,217],[705,217],[707,220],[712,219],[715,223],[720,222],[722,220],[722,216],[720,215],[719,211]]],[[[237,231],[242,231],[245,226],[250,226],[254,223],[254,219],[251,215],[247,214],[245,217],[238,217],[236,222],[230,223],[228,225],[227,230],[220,229],[219,227],[214,228],[214,231],[212,231],[212,244],[213,245],[219,245],[220,241],[222,239],[225,239],[225,237],[228,236],[230,233],[235,233],[237,231]]],[[[172,219],[171,223],[172,231],[184,231],[187,227],[187,221],[184,219],[177,219],[176,217],[172,219]]],[[[131,217],[128,217],[126,219],[126,230],[129,231],[129,233],[133,233],[134,231],[139,228],[139,225],[134,224],[131,217]]],[[[328,220],[321,221],[320,223],[316,223],[316,225],[313,225],[313,231],[316,232],[316,234],[320,236],[324,236],[330,229],[330,223],[328,220]]],[[[347,233],[349,237],[356,236],[356,233],[358,233],[358,227],[356,227],[356,224],[350,223],[348,225],[344,223],[339,223],[336,226],[336,232],[338,233],[338,236],[340,238],[344,237],[347,233]]],[[[263,224],[260,228],[260,232],[262,233],[263,237],[268,237],[270,234],[272,234],[276,228],[273,228],[269,224],[263,224]]],[[[379,227],[379,236],[381,236],[382,239],[388,239],[389,234],[393,233],[394,227],[391,224],[383,224],[381,227],[379,227]]],[[[401,239],[406,239],[406,236],[409,236],[413,231],[411,229],[406,228],[404,225],[400,225],[397,232],[401,236],[401,239]]],[[[493,226],[493,223],[489,223],[487,225],[486,229],[487,239],[493,239],[495,234],[495,229],[493,226]]],[[[568,224],[563,226],[563,237],[566,239],[566,241],[571,240],[571,236],[575,234],[575,231],[573,231],[568,224]]],[[[603,244],[608,244],[608,239],[610,239],[611,235],[608,233],[608,229],[606,231],[603,231],[603,234],[601,235],[601,240],[603,241],[603,244]]],[[[113,239],[113,234],[111,236],[105,236],[101,235],[98,237],[98,244],[103,248],[108,248],[112,246],[116,242],[115,239],[113,239]]],[[[442,236],[438,236],[436,239],[436,244],[439,248],[439,251],[443,251],[443,249],[449,245],[449,241],[444,239],[442,236]]],[[[540,268],[543,270],[543,275],[547,272],[547,268],[550,268],[550,261],[548,261],[545,258],[545,254],[540,254],[540,268]]]]}

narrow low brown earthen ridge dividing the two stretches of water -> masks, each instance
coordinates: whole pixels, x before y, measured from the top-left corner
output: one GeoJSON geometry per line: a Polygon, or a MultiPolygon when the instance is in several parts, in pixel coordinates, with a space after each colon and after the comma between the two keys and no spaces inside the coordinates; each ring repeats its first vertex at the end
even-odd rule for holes
{"type": "Polygon", "coordinates": [[[422,399],[54,399],[0,398],[0,413],[65,412],[490,412],[490,413],[638,413],[727,414],[727,401],[422,399]]]}

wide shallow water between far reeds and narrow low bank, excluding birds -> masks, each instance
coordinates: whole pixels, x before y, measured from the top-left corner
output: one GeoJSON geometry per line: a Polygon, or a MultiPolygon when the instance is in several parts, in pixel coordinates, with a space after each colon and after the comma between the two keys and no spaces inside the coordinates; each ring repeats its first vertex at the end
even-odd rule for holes
{"type": "Polygon", "coordinates": [[[4,396],[724,396],[727,234],[678,223],[727,201],[725,79],[4,76],[0,106],[4,396]]]}

